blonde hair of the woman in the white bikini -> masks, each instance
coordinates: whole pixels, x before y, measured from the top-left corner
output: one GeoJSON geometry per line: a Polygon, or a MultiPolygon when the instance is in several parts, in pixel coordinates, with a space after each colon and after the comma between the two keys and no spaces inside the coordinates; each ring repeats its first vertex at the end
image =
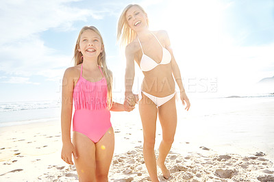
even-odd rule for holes
{"type": "MultiPolygon", "coordinates": [[[[129,4],[125,9],[123,10],[117,27],[117,41],[119,41],[121,37],[121,46],[125,46],[132,42],[136,38],[136,32],[129,27],[129,24],[127,23],[127,17],[125,14],[127,13],[127,10],[129,8],[132,8],[133,6],[138,7],[143,13],[147,14],[145,10],[138,4],[129,4]]],[[[147,25],[149,25],[149,20],[147,19],[147,25]]]]}

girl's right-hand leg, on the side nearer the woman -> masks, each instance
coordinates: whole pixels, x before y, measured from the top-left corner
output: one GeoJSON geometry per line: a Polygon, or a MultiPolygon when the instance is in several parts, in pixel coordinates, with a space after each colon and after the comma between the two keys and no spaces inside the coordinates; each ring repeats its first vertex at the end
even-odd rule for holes
{"type": "Polygon", "coordinates": [[[108,170],[114,152],[114,131],[112,127],[95,144],[96,146],[96,179],[98,182],[108,181],[108,170]]]}

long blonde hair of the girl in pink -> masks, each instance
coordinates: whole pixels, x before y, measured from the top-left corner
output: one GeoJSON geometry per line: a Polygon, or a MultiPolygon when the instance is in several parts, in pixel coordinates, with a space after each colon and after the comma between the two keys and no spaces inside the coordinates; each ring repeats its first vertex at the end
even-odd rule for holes
{"type": "MultiPolygon", "coordinates": [[[[83,27],[81,29],[81,31],[79,32],[79,36],[77,38],[77,42],[76,42],[75,49],[74,49],[73,60],[74,60],[75,66],[83,63],[82,53],[80,51],[78,51],[78,49],[79,49],[80,38],[81,38],[83,32],[86,30],[95,31],[95,33],[98,34],[99,37],[101,38],[101,43],[103,46],[103,38],[102,38],[99,30],[96,27],[93,27],[93,26],[83,27]]],[[[99,54],[98,59],[97,59],[97,64],[98,64],[98,66],[100,66],[102,68],[103,75],[105,76],[105,79],[108,83],[108,109],[110,109],[112,107],[112,81],[113,81],[113,78],[112,78],[112,71],[108,69],[108,66],[105,61],[105,49],[103,49],[103,51],[99,54]]]]}

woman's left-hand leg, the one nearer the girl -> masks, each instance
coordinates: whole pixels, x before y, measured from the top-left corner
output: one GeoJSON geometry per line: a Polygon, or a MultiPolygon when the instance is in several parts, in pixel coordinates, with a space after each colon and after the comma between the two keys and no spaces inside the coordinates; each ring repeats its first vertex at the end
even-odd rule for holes
{"type": "Polygon", "coordinates": [[[143,153],[145,165],[149,172],[151,181],[158,181],[157,165],[154,153],[156,119],[158,109],[155,104],[142,94],[142,100],[139,103],[139,112],[142,120],[142,131],[144,135],[143,153]]]}

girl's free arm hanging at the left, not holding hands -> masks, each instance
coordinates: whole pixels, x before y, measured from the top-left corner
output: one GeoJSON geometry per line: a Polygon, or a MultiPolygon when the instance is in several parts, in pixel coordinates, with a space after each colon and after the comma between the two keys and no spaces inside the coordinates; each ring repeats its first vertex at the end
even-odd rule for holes
{"type": "Polygon", "coordinates": [[[67,164],[73,164],[71,154],[77,158],[75,148],[71,143],[71,116],[73,111],[73,77],[72,68],[66,69],[62,81],[62,111],[61,111],[61,129],[62,129],[62,153],[61,158],[67,164]]]}

